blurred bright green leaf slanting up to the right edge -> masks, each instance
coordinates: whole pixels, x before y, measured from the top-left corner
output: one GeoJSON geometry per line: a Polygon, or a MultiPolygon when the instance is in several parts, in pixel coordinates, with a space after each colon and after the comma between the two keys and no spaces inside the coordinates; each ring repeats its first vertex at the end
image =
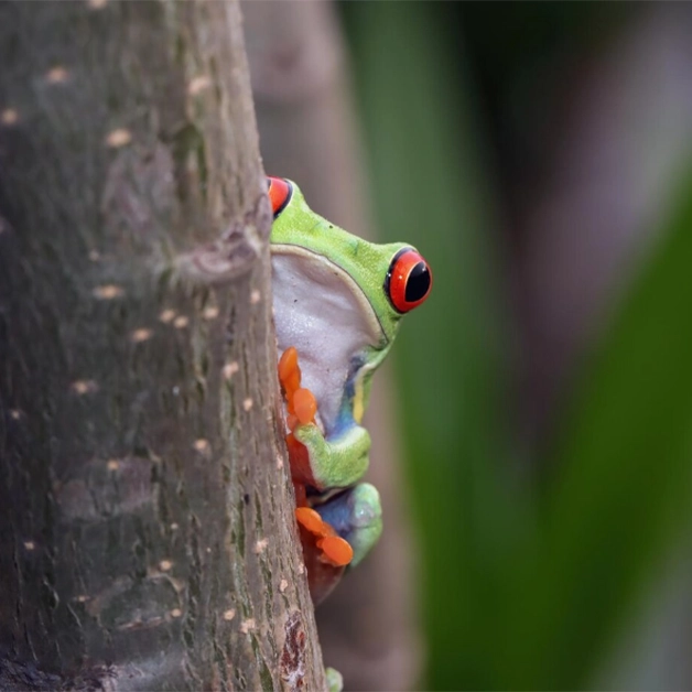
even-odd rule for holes
{"type": "Polygon", "coordinates": [[[566,425],[542,558],[508,619],[508,685],[585,684],[666,549],[689,529],[692,177],[674,207],[566,425]]]}

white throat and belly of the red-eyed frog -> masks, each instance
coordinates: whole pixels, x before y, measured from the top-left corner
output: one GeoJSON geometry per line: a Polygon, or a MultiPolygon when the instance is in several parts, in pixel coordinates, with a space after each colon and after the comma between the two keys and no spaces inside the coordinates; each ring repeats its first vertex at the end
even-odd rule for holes
{"type": "Polygon", "coordinates": [[[353,359],[378,347],[382,331],[358,284],[321,255],[272,245],[272,290],[279,355],[298,349],[302,387],[317,400],[324,429],[334,429],[353,359]]]}

